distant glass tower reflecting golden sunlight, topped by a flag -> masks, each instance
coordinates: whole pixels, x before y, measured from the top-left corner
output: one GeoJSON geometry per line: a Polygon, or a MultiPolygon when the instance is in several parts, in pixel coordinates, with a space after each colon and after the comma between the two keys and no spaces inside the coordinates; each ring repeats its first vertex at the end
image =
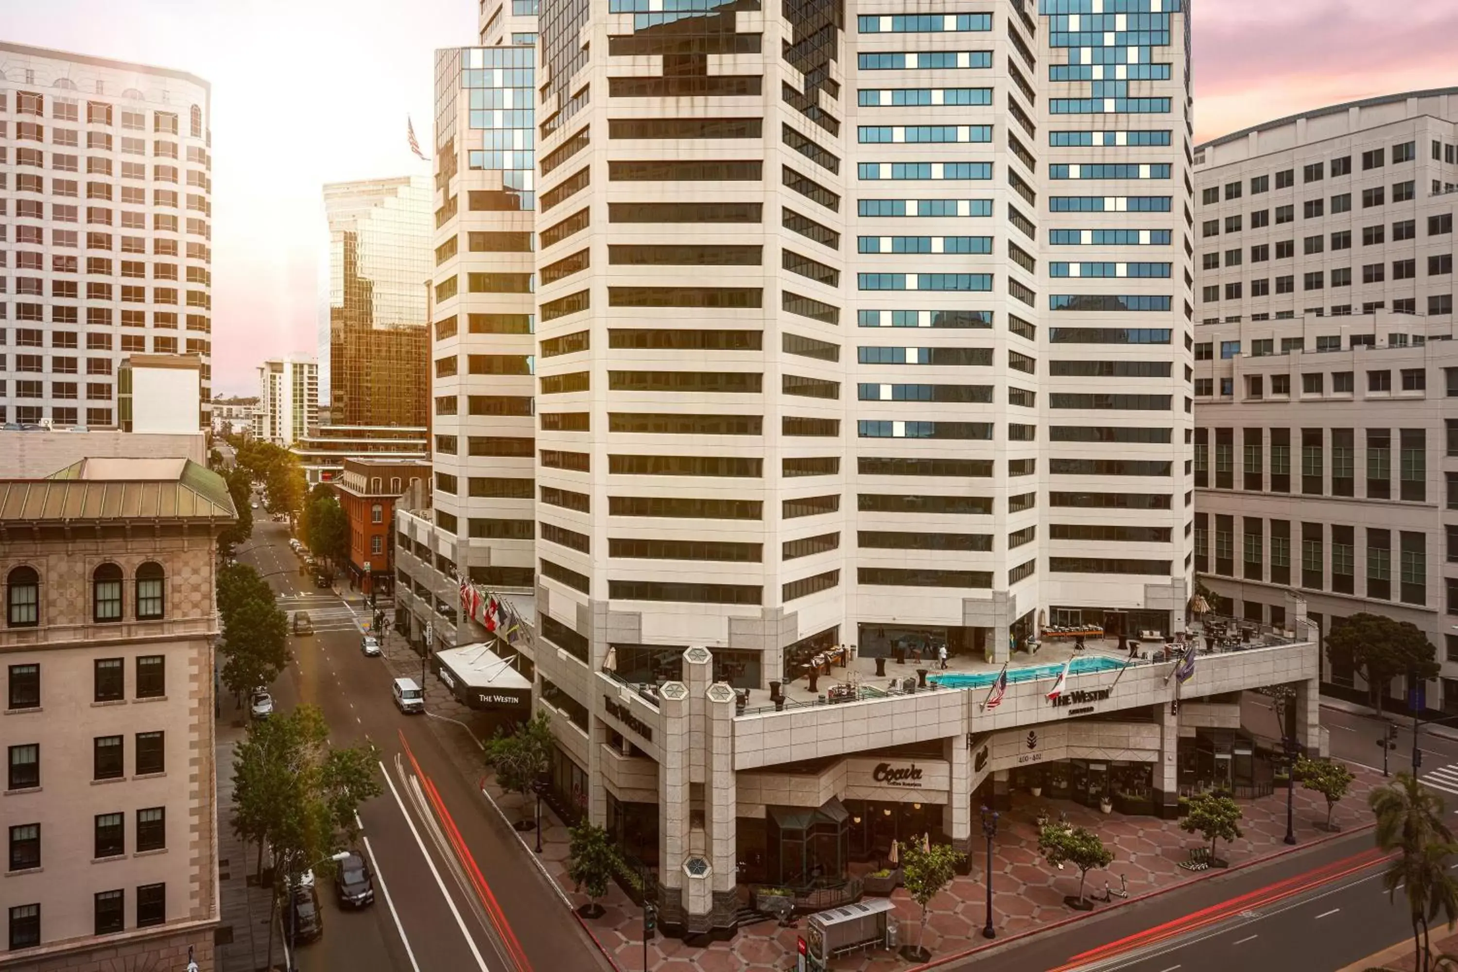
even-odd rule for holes
{"type": "Polygon", "coordinates": [[[430,179],[324,187],[330,424],[424,427],[430,179]]]}

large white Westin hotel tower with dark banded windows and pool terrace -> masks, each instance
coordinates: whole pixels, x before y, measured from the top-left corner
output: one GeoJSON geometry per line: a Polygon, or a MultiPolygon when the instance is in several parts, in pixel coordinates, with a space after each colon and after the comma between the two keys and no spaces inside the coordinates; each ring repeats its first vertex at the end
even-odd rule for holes
{"type": "Polygon", "coordinates": [[[1248,688],[1293,685],[1319,743],[1299,599],[1182,688],[1117,670],[1194,568],[1188,25],[1044,6],[561,4],[534,63],[496,45],[535,31],[513,0],[437,57],[397,622],[515,660],[554,806],[671,933],[732,931],[736,882],[967,848],[1013,787],[1260,793],[1248,688]]]}

